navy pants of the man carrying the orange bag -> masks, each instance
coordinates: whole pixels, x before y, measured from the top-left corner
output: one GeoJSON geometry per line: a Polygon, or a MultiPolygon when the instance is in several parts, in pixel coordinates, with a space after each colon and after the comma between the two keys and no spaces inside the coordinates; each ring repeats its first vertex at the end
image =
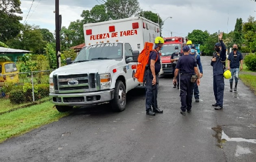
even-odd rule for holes
{"type": "Polygon", "coordinates": [[[152,85],[153,75],[146,70],[146,111],[151,107],[157,108],[158,75],[156,75],[156,85],[152,85]]]}

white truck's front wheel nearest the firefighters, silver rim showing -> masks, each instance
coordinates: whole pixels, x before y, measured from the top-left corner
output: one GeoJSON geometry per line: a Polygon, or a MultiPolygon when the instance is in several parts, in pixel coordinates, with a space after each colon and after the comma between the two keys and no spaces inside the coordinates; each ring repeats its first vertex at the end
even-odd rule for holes
{"type": "Polygon", "coordinates": [[[110,101],[113,111],[124,111],[126,106],[126,89],[122,81],[116,81],[113,100],[110,101]]]}

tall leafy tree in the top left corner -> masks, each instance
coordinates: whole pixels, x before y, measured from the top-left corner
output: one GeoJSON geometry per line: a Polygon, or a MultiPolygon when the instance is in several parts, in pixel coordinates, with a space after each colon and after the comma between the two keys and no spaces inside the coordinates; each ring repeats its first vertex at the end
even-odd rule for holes
{"type": "Polygon", "coordinates": [[[6,42],[19,34],[22,24],[20,0],[0,0],[0,41],[6,42]]]}

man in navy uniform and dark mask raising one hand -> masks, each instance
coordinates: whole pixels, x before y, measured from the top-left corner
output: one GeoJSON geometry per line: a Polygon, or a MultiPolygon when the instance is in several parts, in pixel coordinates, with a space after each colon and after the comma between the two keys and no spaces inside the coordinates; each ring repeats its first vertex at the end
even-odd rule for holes
{"type": "Polygon", "coordinates": [[[222,41],[223,32],[219,34],[220,43],[215,43],[215,51],[210,65],[213,66],[213,91],[216,103],[212,104],[215,110],[223,108],[223,95],[224,95],[224,68],[226,61],[226,46],[222,41]]]}

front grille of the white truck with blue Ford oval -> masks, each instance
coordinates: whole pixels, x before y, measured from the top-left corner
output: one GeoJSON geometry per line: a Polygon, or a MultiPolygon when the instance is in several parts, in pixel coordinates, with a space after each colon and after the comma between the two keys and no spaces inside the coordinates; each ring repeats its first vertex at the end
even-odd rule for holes
{"type": "Polygon", "coordinates": [[[99,85],[99,81],[95,79],[96,74],[54,75],[54,90],[59,93],[95,91],[99,85]]]}

